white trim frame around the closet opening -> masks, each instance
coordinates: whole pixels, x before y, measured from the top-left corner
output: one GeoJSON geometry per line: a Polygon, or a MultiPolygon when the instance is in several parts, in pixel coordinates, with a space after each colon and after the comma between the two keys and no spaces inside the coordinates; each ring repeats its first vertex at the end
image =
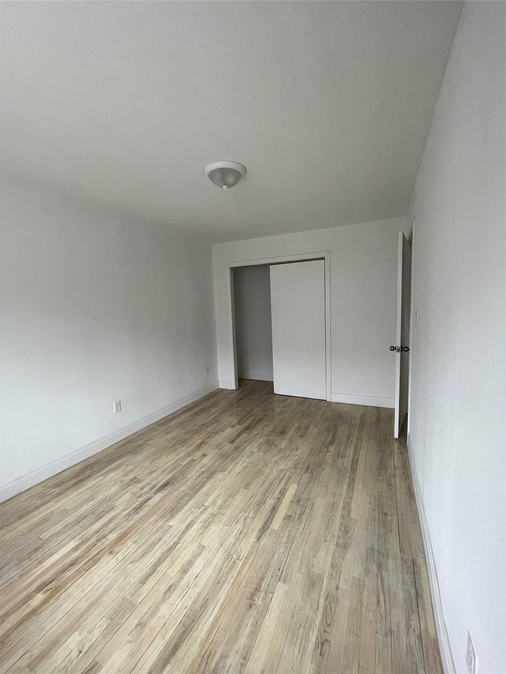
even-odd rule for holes
{"type": "Polygon", "coordinates": [[[233,270],[237,267],[258,267],[285,262],[307,262],[311,259],[325,260],[325,382],[326,396],[332,400],[331,381],[331,253],[318,251],[316,253],[298,253],[297,255],[278,255],[277,257],[262,257],[259,259],[244,259],[238,262],[226,263],[227,276],[227,311],[230,336],[229,359],[233,371],[233,389],[239,388],[237,378],[237,348],[235,346],[235,307],[233,305],[233,270]]]}

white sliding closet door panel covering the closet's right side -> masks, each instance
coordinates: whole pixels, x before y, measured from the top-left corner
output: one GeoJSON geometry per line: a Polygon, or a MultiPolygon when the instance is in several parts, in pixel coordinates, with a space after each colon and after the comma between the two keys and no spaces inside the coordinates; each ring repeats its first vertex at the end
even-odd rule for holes
{"type": "Polygon", "coordinates": [[[271,266],[274,392],[326,400],[325,260],[271,266]]]}

